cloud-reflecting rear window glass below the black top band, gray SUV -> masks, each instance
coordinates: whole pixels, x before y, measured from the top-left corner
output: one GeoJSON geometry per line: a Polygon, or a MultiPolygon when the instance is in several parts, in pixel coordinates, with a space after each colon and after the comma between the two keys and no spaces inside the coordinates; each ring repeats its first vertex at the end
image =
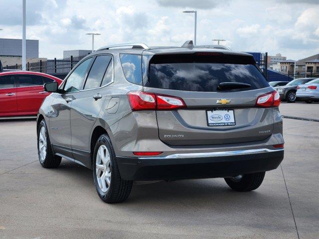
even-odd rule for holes
{"type": "Polygon", "coordinates": [[[150,87],[181,91],[216,92],[222,82],[239,82],[255,90],[268,86],[262,73],[251,64],[228,63],[159,63],[151,64],[150,87]]]}

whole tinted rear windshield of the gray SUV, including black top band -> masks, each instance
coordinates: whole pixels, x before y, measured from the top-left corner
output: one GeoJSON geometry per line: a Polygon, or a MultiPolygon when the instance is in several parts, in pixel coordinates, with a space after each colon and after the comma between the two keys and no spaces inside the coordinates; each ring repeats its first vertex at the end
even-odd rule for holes
{"type": "MultiPolygon", "coordinates": [[[[212,53],[213,54],[213,53],[212,53]]],[[[268,87],[252,57],[235,55],[179,54],[155,55],[150,61],[149,82],[153,88],[216,92],[219,83],[250,84],[249,88],[227,91],[246,91],[268,87]]]]}

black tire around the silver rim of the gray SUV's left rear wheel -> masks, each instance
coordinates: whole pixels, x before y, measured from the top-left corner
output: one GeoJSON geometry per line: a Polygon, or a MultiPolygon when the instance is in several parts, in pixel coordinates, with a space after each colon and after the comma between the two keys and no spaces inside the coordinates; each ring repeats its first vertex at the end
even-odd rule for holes
{"type": "Polygon", "coordinates": [[[107,134],[102,134],[98,138],[94,148],[92,162],[93,162],[92,168],[93,168],[94,184],[99,197],[105,203],[120,203],[125,201],[131,193],[133,181],[127,181],[121,178],[118,164],[116,161],[114,148],[111,143],[110,137],[107,134]],[[104,145],[107,148],[110,155],[111,180],[106,192],[103,192],[102,189],[100,188],[98,179],[97,179],[97,173],[96,173],[97,154],[101,145],[104,145]]]}

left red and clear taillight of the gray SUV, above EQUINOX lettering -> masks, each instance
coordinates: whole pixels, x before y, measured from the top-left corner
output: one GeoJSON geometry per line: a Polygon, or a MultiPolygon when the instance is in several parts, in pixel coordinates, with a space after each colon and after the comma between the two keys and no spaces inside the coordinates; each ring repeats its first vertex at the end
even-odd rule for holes
{"type": "Polygon", "coordinates": [[[133,111],[173,110],[186,107],[179,97],[159,95],[143,91],[131,91],[128,99],[133,111]]]}

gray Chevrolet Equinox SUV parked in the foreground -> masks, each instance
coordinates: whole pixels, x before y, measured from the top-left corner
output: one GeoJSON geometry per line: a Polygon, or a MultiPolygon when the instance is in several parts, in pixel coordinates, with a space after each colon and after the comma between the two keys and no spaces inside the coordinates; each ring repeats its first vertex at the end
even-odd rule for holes
{"type": "Polygon", "coordinates": [[[246,53],[107,46],[44,87],[41,165],[92,169],[107,203],[126,200],[134,180],[223,177],[255,190],[284,157],[280,96],[246,53]]]}

